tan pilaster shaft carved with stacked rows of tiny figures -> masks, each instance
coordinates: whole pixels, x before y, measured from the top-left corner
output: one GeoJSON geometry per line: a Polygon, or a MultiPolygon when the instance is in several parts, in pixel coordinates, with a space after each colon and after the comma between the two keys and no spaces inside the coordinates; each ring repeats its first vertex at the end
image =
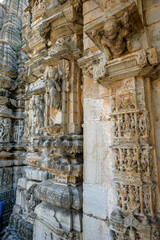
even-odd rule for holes
{"type": "Polygon", "coordinates": [[[117,196],[110,229],[116,240],[151,239],[156,188],[145,90],[143,78],[128,78],[110,85],[117,196]]]}

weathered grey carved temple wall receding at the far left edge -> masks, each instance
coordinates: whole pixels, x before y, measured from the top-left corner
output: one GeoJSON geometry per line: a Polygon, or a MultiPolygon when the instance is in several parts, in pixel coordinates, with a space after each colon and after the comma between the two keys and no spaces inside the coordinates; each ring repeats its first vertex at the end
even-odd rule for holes
{"type": "Polygon", "coordinates": [[[24,165],[22,75],[27,56],[21,49],[21,34],[25,7],[25,1],[0,3],[0,201],[5,204],[4,225],[12,212],[24,165]]]}

